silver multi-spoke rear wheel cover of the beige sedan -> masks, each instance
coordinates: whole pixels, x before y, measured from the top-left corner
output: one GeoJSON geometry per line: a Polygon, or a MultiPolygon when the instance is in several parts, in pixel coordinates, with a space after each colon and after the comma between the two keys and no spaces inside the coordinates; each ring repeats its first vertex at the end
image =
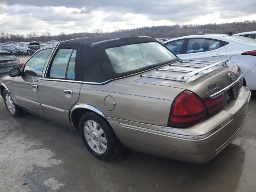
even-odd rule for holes
{"type": "Polygon", "coordinates": [[[93,120],[84,124],[84,137],[86,142],[98,154],[106,152],[108,143],[103,129],[93,120]]]}

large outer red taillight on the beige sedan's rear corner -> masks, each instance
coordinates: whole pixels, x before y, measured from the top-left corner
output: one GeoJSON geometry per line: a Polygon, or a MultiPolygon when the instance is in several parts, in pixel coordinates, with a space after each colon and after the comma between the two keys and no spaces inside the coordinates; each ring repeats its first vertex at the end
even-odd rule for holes
{"type": "Polygon", "coordinates": [[[206,118],[207,112],[202,99],[186,90],[173,101],[168,126],[186,128],[206,118]]]}

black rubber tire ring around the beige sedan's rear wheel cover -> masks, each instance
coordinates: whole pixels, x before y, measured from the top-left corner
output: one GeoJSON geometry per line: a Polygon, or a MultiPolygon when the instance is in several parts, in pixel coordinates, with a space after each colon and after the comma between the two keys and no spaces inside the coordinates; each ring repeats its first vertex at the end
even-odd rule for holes
{"type": "Polygon", "coordinates": [[[114,134],[114,131],[112,130],[108,122],[106,122],[106,120],[104,120],[101,116],[99,116],[98,114],[95,114],[94,112],[88,112],[84,114],[80,119],[79,129],[80,129],[80,134],[81,134],[82,141],[84,142],[84,145],[90,151],[90,153],[93,154],[96,158],[103,161],[110,161],[118,155],[119,153],[118,138],[114,134]],[[106,147],[106,151],[102,154],[95,152],[86,141],[86,138],[84,136],[84,126],[86,122],[88,122],[88,120],[96,122],[100,126],[100,128],[102,128],[102,130],[104,131],[104,136],[107,141],[107,147],[106,147]]]}

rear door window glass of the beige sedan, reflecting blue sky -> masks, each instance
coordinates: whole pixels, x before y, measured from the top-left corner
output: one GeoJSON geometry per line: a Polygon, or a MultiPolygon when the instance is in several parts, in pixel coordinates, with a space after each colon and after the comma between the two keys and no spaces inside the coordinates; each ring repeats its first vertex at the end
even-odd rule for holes
{"type": "Polygon", "coordinates": [[[50,69],[50,78],[75,79],[75,49],[58,50],[50,69]]]}

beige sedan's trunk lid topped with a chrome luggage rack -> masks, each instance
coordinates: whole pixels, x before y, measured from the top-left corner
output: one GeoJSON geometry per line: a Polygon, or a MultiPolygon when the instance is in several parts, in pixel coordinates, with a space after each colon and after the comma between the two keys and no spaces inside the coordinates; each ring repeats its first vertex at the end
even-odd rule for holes
{"type": "Polygon", "coordinates": [[[227,61],[183,60],[123,80],[190,90],[201,98],[216,97],[227,92],[226,89],[238,86],[234,96],[230,96],[234,98],[242,87],[241,81],[238,85],[242,72],[236,65],[226,65],[227,61]]]}

